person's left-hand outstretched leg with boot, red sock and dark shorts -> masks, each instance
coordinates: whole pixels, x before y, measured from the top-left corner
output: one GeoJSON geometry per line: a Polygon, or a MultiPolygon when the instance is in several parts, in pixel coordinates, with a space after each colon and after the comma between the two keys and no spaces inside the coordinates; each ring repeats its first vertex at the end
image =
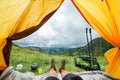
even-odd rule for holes
{"type": "Polygon", "coordinates": [[[51,70],[48,73],[48,77],[45,80],[59,80],[57,78],[56,67],[55,67],[55,60],[51,60],[51,70]]]}

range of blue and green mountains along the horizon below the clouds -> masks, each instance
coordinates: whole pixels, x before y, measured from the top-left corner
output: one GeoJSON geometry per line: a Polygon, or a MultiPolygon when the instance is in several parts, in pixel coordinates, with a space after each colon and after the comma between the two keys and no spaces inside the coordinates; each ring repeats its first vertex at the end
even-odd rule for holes
{"type": "Polygon", "coordinates": [[[58,55],[88,55],[90,53],[94,53],[94,55],[99,56],[103,55],[108,49],[113,46],[105,41],[103,38],[99,37],[89,42],[87,45],[83,47],[70,48],[70,47],[38,47],[38,46],[26,46],[25,48],[49,53],[49,54],[58,54],[58,55]],[[90,45],[90,49],[88,49],[88,44],[90,45]]]}

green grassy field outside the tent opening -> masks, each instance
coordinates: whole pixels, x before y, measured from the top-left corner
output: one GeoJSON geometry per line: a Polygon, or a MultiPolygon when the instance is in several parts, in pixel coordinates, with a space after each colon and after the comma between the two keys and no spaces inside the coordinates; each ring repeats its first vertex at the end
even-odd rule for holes
{"type": "MultiPolygon", "coordinates": [[[[56,67],[59,69],[61,60],[66,60],[65,69],[69,72],[81,72],[84,71],[74,65],[74,58],[76,56],[65,56],[65,55],[50,55],[46,53],[40,53],[37,51],[20,48],[17,46],[12,47],[12,52],[10,56],[10,66],[16,69],[18,64],[22,64],[23,68],[20,72],[30,72],[32,63],[38,63],[39,67],[42,68],[43,73],[47,73],[50,70],[50,60],[54,58],[56,60],[56,67]]],[[[104,71],[107,62],[103,56],[97,57],[101,69],[104,71]]],[[[37,72],[34,72],[37,74],[37,72]]]]}

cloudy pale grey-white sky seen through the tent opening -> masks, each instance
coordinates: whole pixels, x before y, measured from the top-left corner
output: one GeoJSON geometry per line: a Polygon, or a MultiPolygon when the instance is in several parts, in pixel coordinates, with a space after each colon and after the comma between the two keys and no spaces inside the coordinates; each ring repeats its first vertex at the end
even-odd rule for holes
{"type": "MultiPolygon", "coordinates": [[[[90,28],[70,0],[65,0],[55,14],[35,33],[14,41],[21,46],[82,47],[87,44],[90,28]]],[[[92,29],[92,37],[99,35],[92,29]]]]}

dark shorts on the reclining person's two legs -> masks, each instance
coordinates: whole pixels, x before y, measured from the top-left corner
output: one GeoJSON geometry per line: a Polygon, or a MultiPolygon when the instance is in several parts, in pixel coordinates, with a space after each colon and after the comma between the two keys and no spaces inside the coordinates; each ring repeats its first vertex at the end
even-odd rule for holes
{"type": "MultiPolygon", "coordinates": [[[[56,77],[47,77],[45,80],[59,80],[59,79],[56,77]]],[[[80,76],[69,73],[63,78],[63,80],[83,80],[83,79],[80,76]]]]}

